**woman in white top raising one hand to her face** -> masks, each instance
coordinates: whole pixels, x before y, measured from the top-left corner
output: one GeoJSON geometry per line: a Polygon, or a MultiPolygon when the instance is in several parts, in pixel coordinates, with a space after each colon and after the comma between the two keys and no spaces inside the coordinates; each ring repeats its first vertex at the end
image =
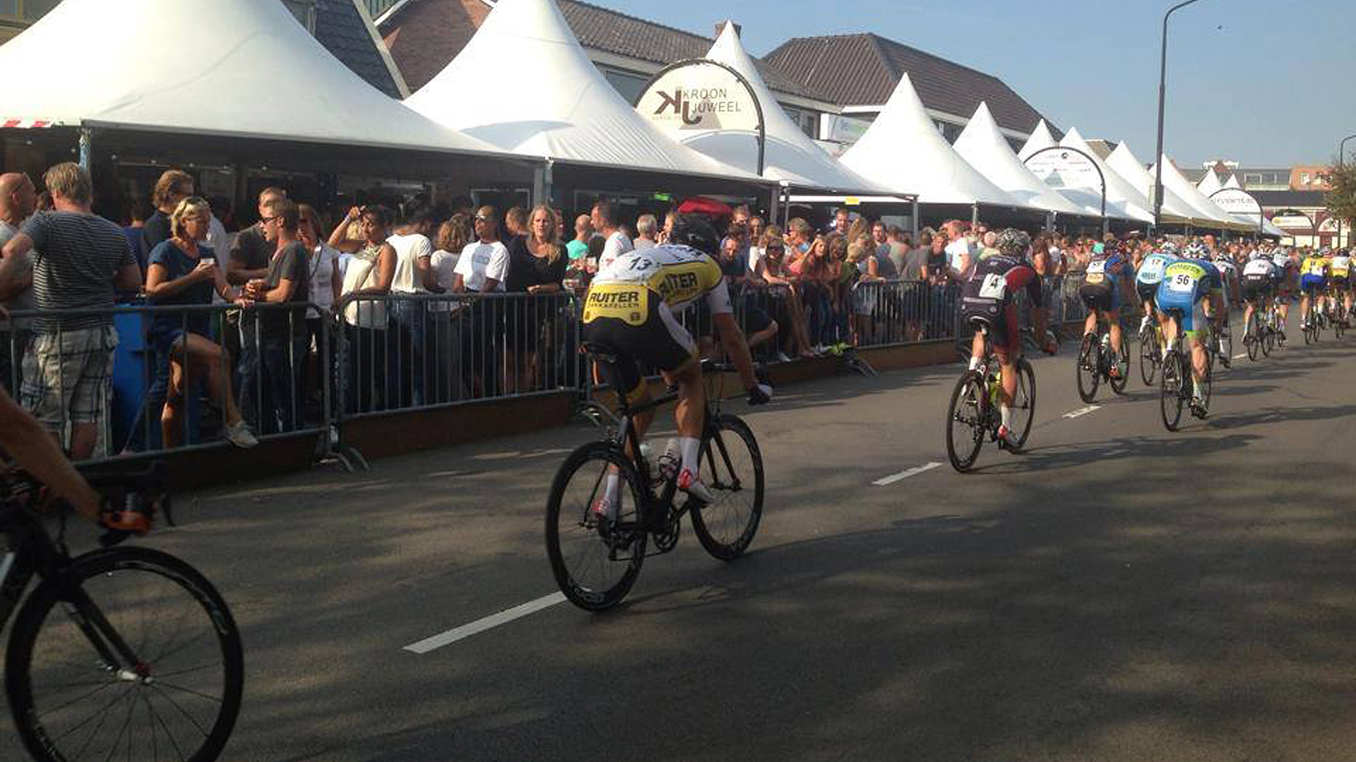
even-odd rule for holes
{"type": "Polygon", "coordinates": [[[340,347],[346,386],[343,400],[348,412],[385,407],[378,373],[386,365],[386,302],[381,297],[391,293],[391,282],[396,275],[396,249],[386,243],[391,218],[391,210],[385,206],[354,206],[330,233],[330,245],[353,254],[343,274],[339,300],[346,339],[340,347]],[[362,230],[361,244],[347,236],[348,226],[354,222],[362,230]]]}

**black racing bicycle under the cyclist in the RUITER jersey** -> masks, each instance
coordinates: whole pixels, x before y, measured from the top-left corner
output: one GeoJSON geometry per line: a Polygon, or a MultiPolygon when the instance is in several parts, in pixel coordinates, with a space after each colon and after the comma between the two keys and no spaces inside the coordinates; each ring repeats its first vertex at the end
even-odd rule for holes
{"type": "MultiPolygon", "coordinates": [[[[618,353],[590,342],[583,348],[610,381],[618,377],[618,353]]],[[[731,367],[702,363],[705,373],[731,367]]],[[[614,382],[613,388],[620,386],[614,382]]],[[[762,452],[743,420],[721,412],[719,393],[706,396],[698,449],[702,479],[716,495],[711,504],[687,498],[677,506],[675,475],[656,475],[641,454],[636,416],[677,400],[678,393],[669,392],[640,405],[629,404],[625,395],[618,399],[617,426],[606,438],[580,445],[565,458],[546,499],[551,571],[565,598],[589,611],[620,603],[636,583],[647,556],[677,548],[685,515],[692,517],[693,533],[706,553],[723,561],[743,555],[762,519],[762,452]],[[635,457],[626,454],[628,446],[635,457]],[[616,514],[598,517],[593,506],[610,473],[618,476],[620,485],[616,514]],[[647,552],[651,538],[654,553],[647,552]],[[586,578],[590,572],[597,574],[586,578]]]]}

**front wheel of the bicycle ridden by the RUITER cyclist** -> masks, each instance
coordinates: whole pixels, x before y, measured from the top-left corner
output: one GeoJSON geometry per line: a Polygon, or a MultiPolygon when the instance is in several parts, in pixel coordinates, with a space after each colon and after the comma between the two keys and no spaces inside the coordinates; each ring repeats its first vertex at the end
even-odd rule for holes
{"type": "Polygon", "coordinates": [[[702,443],[701,477],[716,499],[692,511],[692,529],[708,553],[730,561],[743,555],[762,521],[762,452],[743,420],[723,415],[715,427],[702,443]]]}

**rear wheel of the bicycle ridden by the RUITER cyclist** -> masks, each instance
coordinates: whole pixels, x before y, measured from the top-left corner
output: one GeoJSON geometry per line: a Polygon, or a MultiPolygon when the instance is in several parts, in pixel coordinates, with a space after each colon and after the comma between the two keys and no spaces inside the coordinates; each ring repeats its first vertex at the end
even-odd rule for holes
{"type": "Polygon", "coordinates": [[[575,606],[610,609],[636,583],[645,560],[643,494],[635,465],[610,442],[578,447],[556,472],[546,498],[546,557],[575,606]],[[617,477],[610,518],[594,511],[609,476],[617,477]]]}

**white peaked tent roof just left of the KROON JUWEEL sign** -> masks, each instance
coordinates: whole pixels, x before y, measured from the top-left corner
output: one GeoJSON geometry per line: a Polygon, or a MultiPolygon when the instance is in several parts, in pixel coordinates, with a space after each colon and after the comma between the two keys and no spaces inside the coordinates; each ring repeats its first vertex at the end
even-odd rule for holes
{"type": "Polygon", "coordinates": [[[410,107],[504,151],[559,161],[761,180],[669,140],[603,79],[552,0],[500,0],[410,107]],[[491,91],[534,80],[530,96],[491,91]]]}

